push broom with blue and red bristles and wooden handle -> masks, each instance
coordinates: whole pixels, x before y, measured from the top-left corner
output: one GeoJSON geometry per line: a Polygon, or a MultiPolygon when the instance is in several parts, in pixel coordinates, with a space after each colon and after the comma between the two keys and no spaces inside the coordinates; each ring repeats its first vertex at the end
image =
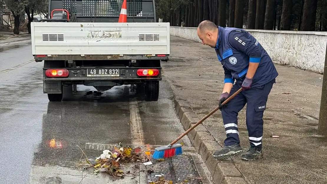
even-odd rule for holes
{"type": "MultiPolygon", "coordinates": [[[[225,105],[227,102],[232,100],[238,93],[240,93],[243,89],[240,88],[237,90],[234,94],[232,94],[229,98],[227,98],[221,105],[225,105]]],[[[210,117],[213,113],[215,113],[219,107],[216,107],[214,110],[212,110],[208,115],[203,117],[198,123],[193,125],[191,128],[189,128],[186,132],[184,132],[181,136],[179,136],[175,141],[171,142],[170,144],[166,146],[157,147],[154,150],[153,159],[162,159],[162,158],[168,158],[173,157],[175,155],[182,154],[182,145],[176,144],[177,141],[179,141],[182,137],[184,137],[186,134],[188,134],[191,130],[193,130],[196,126],[198,126],[200,123],[202,123],[204,120],[206,120],[208,117],[210,117]]]]}

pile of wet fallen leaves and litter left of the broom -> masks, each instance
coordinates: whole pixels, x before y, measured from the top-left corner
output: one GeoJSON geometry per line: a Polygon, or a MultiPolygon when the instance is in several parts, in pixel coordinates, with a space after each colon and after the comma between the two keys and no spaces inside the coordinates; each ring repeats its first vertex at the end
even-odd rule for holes
{"type": "Polygon", "coordinates": [[[130,146],[123,146],[120,142],[118,146],[114,146],[113,150],[109,150],[108,156],[103,158],[97,158],[96,163],[92,166],[95,168],[93,174],[99,172],[106,172],[114,177],[124,177],[125,173],[120,168],[120,163],[130,163],[130,162],[144,162],[145,158],[141,153],[135,153],[135,148],[132,149],[130,146]]]}

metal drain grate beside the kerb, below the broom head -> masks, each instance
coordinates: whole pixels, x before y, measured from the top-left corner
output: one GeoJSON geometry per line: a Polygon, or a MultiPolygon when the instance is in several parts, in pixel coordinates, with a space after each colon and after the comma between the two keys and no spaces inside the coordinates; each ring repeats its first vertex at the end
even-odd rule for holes
{"type": "Polygon", "coordinates": [[[147,184],[158,181],[159,176],[174,184],[202,184],[192,156],[177,155],[165,161],[152,160],[152,163],[151,167],[147,166],[147,170],[153,171],[147,174],[147,184]]]}

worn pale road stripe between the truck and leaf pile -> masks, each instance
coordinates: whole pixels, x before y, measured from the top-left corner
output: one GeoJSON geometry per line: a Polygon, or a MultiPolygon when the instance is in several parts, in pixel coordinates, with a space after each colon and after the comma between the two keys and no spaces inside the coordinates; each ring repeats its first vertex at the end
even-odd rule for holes
{"type": "Polygon", "coordinates": [[[132,145],[144,145],[144,133],[142,128],[142,121],[136,99],[129,101],[130,112],[130,133],[132,145]]]}

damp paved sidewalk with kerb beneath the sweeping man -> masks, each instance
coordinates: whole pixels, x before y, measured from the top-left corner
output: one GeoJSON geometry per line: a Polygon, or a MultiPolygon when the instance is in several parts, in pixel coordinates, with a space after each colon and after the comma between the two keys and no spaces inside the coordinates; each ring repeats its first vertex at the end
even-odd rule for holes
{"type": "MultiPolygon", "coordinates": [[[[174,36],[170,40],[163,79],[171,84],[176,110],[188,129],[218,106],[224,72],[213,48],[174,36]]],[[[322,75],[275,66],[279,76],[264,114],[263,159],[217,161],[210,156],[226,138],[219,110],[188,134],[216,184],[327,183],[327,138],[317,134],[322,75]]],[[[238,117],[241,146],[247,150],[245,108],[238,117]]]]}

